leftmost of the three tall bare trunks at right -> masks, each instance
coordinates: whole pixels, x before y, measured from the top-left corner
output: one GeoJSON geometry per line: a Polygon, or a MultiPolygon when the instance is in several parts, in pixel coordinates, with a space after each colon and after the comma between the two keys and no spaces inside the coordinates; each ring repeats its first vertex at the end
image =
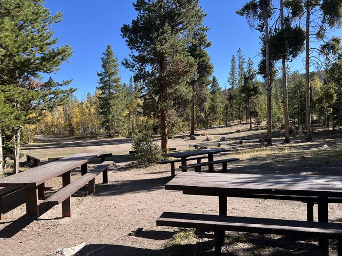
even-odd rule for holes
{"type": "Polygon", "coordinates": [[[268,6],[266,1],[263,4],[265,21],[265,50],[266,50],[266,87],[267,87],[267,145],[272,146],[272,102],[271,102],[271,72],[270,72],[270,52],[268,43],[268,6]]]}

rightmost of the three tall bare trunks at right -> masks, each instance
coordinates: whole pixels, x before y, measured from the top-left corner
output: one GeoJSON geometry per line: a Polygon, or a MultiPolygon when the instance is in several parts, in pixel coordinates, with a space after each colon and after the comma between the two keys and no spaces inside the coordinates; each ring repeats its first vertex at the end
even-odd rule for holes
{"type": "Polygon", "coordinates": [[[310,0],[306,1],[306,42],[305,42],[305,109],[306,109],[306,141],[312,142],[311,102],[310,102],[310,0]]]}

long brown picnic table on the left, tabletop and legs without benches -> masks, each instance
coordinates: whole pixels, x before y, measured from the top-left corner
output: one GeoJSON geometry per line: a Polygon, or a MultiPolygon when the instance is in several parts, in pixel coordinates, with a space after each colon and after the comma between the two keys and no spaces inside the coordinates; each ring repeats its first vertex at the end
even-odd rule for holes
{"type": "Polygon", "coordinates": [[[62,158],[19,174],[0,178],[0,187],[25,187],[26,213],[39,216],[38,199],[44,197],[45,181],[62,175],[64,187],[71,182],[71,170],[81,166],[81,172],[85,174],[88,171],[88,161],[101,155],[101,152],[91,152],[62,158]]]}

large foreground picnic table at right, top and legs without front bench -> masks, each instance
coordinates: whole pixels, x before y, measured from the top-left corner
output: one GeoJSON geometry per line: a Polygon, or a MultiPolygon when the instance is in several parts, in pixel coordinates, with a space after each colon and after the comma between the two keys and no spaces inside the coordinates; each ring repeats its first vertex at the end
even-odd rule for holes
{"type": "MultiPolygon", "coordinates": [[[[189,172],[178,174],[165,185],[165,189],[181,190],[183,194],[217,196],[221,216],[227,216],[227,197],[230,195],[317,197],[318,220],[328,222],[328,197],[342,197],[342,177],[189,172]]],[[[327,239],[321,239],[320,246],[326,252],[327,239]]]]}

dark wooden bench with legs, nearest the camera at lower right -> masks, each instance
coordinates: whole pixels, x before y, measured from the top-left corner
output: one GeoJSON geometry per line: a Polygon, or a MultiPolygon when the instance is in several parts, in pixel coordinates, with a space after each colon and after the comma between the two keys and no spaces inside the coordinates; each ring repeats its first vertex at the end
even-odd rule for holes
{"type": "Polygon", "coordinates": [[[157,219],[157,226],[214,231],[216,256],[221,255],[221,245],[224,243],[222,231],[336,239],[338,240],[338,255],[342,256],[341,223],[165,212],[157,219]]]}

